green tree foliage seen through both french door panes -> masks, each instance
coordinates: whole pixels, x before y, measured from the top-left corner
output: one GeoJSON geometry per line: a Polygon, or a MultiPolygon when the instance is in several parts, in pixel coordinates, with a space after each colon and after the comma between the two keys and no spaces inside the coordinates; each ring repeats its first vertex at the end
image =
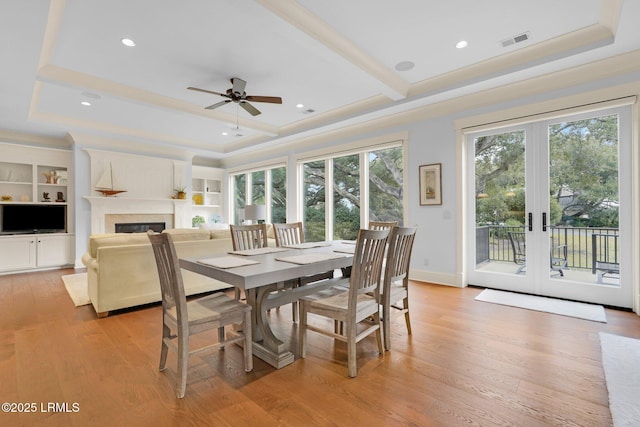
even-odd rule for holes
{"type": "MultiPolygon", "coordinates": [[[[618,226],[617,116],[549,126],[551,225],[618,226]]],[[[476,222],[524,223],[525,135],[477,138],[476,222]]]]}

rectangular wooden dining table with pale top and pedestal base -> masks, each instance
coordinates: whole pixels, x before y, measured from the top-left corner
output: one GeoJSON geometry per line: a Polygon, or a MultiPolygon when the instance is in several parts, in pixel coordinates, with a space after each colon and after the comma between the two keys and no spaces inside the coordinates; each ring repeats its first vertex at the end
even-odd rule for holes
{"type": "Polygon", "coordinates": [[[244,291],[246,302],[251,305],[253,354],[279,369],[293,363],[295,357],[289,345],[275,335],[269,310],[335,286],[339,277],[302,286],[290,284],[301,277],[351,266],[354,249],[351,241],[306,242],[184,257],[180,258],[180,267],[244,291]]]}

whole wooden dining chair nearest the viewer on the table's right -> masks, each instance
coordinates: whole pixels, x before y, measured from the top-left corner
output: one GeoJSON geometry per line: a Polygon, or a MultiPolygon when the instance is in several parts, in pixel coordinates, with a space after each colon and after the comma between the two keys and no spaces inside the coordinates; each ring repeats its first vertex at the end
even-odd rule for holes
{"type": "MultiPolygon", "coordinates": [[[[334,279],[337,284],[348,280],[349,289],[338,286],[300,299],[299,351],[307,353],[307,331],[314,331],[347,343],[347,365],[351,378],[358,375],[356,344],[376,333],[378,350],[382,346],[379,295],[381,269],[390,230],[360,230],[356,240],[351,277],[334,279]],[[342,330],[329,330],[308,324],[308,314],[328,317],[344,324],[342,330]],[[361,325],[362,324],[362,325],[361,325]],[[364,329],[361,329],[364,326],[364,329]],[[356,329],[358,328],[358,329],[356,329]]],[[[335,324],[335,323],[334,323],[335,324]]]]}

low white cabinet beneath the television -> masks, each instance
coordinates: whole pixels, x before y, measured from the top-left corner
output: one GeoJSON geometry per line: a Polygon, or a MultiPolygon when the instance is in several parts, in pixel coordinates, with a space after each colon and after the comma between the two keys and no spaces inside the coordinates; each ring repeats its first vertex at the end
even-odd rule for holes
{"type": "Polygon", "coordinates": [[[0,271],[63,267],[73,264],[71,234],[28,234],[0,238],[0,271]]]}

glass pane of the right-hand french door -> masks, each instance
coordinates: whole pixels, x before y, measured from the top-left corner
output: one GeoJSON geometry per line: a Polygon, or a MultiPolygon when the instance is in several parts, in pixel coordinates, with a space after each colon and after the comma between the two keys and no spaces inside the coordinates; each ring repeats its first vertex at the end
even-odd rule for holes
{"type": "Polygon", "coordinates": [[[548,132],[551,274],[619,286],[618,116],[548,132]]]}

